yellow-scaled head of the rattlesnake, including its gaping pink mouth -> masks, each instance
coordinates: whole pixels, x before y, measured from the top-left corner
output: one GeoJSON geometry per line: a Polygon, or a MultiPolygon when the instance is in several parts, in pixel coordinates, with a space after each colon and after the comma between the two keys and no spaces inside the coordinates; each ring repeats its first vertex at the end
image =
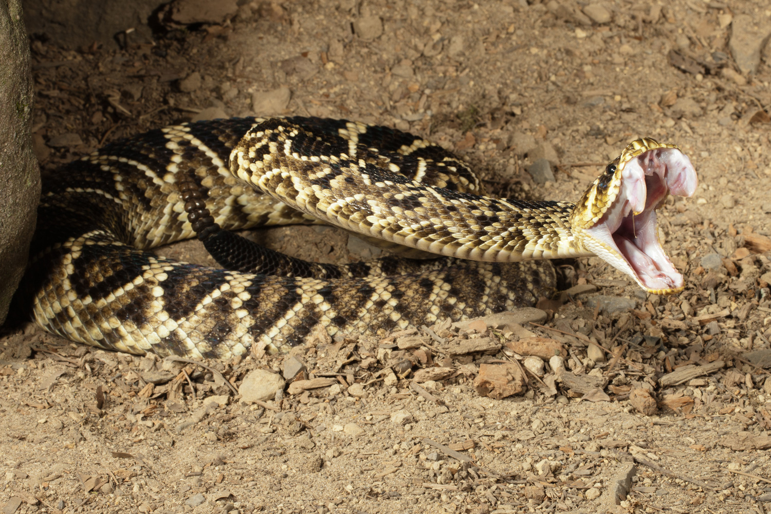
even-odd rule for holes
{"type": "Polygon", "coordinates": [[[653,294],[682,291],[685,281],[658,240],[656,210],[669,193],[692,197],[696,172],[680,149],[635,139],[584,191],[571,213],[577,242],[653,294]]]}

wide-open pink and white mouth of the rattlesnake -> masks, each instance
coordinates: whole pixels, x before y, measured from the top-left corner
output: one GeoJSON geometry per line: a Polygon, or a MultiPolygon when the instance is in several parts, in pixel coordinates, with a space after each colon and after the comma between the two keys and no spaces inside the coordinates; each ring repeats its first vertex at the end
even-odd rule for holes
{"type": "Polygon", "coordinates": [[[618,166],[623,166],[618,195],[600,220],[585,229],[604,247],[595,247],[594,253],[631,274],[648,292],[681,291],[685,285],[682,274],[658,241],[656,210],[668,193],[680,197],[695,193],[697,179],[691,160],[679,149],[655,148],[618,166]]]}

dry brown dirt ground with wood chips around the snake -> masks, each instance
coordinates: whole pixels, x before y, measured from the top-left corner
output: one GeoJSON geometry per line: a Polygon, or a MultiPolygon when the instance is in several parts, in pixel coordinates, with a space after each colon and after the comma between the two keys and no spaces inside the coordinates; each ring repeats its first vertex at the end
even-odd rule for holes
{"type": "MultiPolygon", "coordinates": [[[[251,2],[120,50],[33,38],[44,170],[167,123],[284,113],[429,137],[500,195],[575,199],[636,136],[678,143],[700,184],[661,214],[682,294],[561,261],[573,289],[541,302],[542,327],[352,334],[209,368],[8,329],[3,512],[771,512],[771,11],[675,4],[251,2]],[[542,157],[556,180],[538,185],[542,157]],[[564,345],[564,368],[525,362],[533,341],[564,345]],[[298,360],[331,380],[256,403],[225,383],[298,360]],[[500,362],[541,376],[481,396],[500,362]]],[[[271,237],[310,259],[375,251],[301,230],[271,237]]]]}

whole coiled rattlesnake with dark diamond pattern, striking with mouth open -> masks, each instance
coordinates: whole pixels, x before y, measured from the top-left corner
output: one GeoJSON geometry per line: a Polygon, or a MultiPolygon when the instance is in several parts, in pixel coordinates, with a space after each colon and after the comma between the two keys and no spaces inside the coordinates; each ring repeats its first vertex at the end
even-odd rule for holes
{"type": "Polygon", "coordinates": [[[254,344],[285,351],[320,329],[385,334],[531,305],[554,288],[540,259],[598,254],[668,294],[683,279],[658,244],[655,210],[695,186],[688,157],[653,139],[630,143],[573,204],[485,197],[462,160],[382,126],[300,117],[168,126],[44,177],[17,297],[72,341],[229,358],[254,344]],[[315,218],[445,257],[312,264],[231,234],[315,218]],[[231,269],[150,251],[195,236],[231,269]]]}

